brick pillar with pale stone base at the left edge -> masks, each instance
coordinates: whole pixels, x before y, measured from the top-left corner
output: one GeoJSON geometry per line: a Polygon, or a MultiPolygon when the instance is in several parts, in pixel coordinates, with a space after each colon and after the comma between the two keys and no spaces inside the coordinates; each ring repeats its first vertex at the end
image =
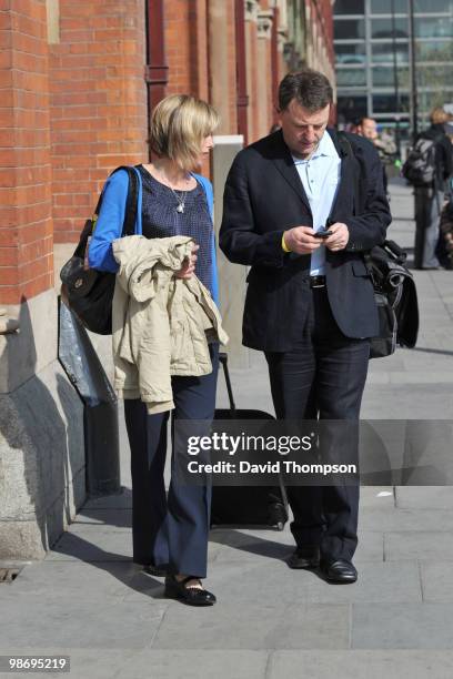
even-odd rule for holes
{"type": "Polygon", "coordinates": [[[1,10],[0,558],[16,560],[44,556],[83,501],[84,448],[57,361],[47,3],[1,10]]]}

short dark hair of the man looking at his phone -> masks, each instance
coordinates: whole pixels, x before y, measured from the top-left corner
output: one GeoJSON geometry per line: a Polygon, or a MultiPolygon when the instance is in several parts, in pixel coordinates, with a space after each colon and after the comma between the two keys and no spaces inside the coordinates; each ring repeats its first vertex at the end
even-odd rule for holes
{"type": "Polygon", "coordinates": [[[323,73],[314,69],[288,73],[279,87],[280,111],[288,109],[293,99],[310,112],[325,109],[333,101],[332,85],[323,73]]]}

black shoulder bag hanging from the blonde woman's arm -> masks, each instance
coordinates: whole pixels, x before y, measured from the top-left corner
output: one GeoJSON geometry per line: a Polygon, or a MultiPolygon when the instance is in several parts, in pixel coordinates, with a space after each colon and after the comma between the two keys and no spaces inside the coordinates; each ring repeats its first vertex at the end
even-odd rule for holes
{"type": "MultiPolygon", "coordinates": [[[[121,165],[113,172],[119,170],[125,170],[129,175],[128,199],[121,236],[133,235],[135,233],[139,180],[132,168],[121,165]]],[[[112,332],[115,274],[89,268],[87,264],[89,239],[94,232],[102,200],[103,191],[93,216],[85,222],[74,254],[60,271],[61,298],[84,327],[99,335],[110,335],[112,332]]]]}

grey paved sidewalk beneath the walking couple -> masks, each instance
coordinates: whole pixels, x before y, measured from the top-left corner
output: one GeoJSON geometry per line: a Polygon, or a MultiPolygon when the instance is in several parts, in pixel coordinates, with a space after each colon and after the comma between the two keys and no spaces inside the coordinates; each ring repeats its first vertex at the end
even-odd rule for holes
{"type": "MultiPolygon", "coordinates": [[[[412,200],[399,183],[392,209],[390,236],[411,247],[412,200]]],[[[416,282],[419,346],[371,363],[364,418],[453,419],[453,274],[416,282]]],[[[272,411],[259,354],[232,377],[239,407],[272,411]]],[[[363,488],[351,586],[290,570],[288,525],[215,529],[207,585],[219,602],[198,610],[164,599],[162,580],[131,563],[122,437],[124,491],[87,503],[44,561],[0,586],[0,655],[69,655],[81,679],[451,679],[452,488],[363,488]]]]}

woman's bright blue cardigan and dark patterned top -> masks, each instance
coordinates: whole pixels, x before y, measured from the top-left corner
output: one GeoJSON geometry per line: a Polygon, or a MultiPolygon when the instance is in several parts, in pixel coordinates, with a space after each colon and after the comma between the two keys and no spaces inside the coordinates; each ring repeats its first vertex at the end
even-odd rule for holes
{"type": "MultiPolygon", "coordinates": [[[[184,197],[184,212],[177,212],[174,193],[155,180],[142,165],[134,168],[139,179],[135,234],[148,239],[188,235],[200,245],[195,274],[219,302],[214,230],[212,226],[213,194],[209,180],[193,174],[198,185],[192,191],[177,191],[184,197]],[[184,195],[185,194],[185,195],[184,195]]],[[[89,264],[100,271],[118,271],[112,241],[121,237],[124,222],[129,178],[125,170],[110,175],[104,185],[102,207],[89,247],[89,264]]]]}

